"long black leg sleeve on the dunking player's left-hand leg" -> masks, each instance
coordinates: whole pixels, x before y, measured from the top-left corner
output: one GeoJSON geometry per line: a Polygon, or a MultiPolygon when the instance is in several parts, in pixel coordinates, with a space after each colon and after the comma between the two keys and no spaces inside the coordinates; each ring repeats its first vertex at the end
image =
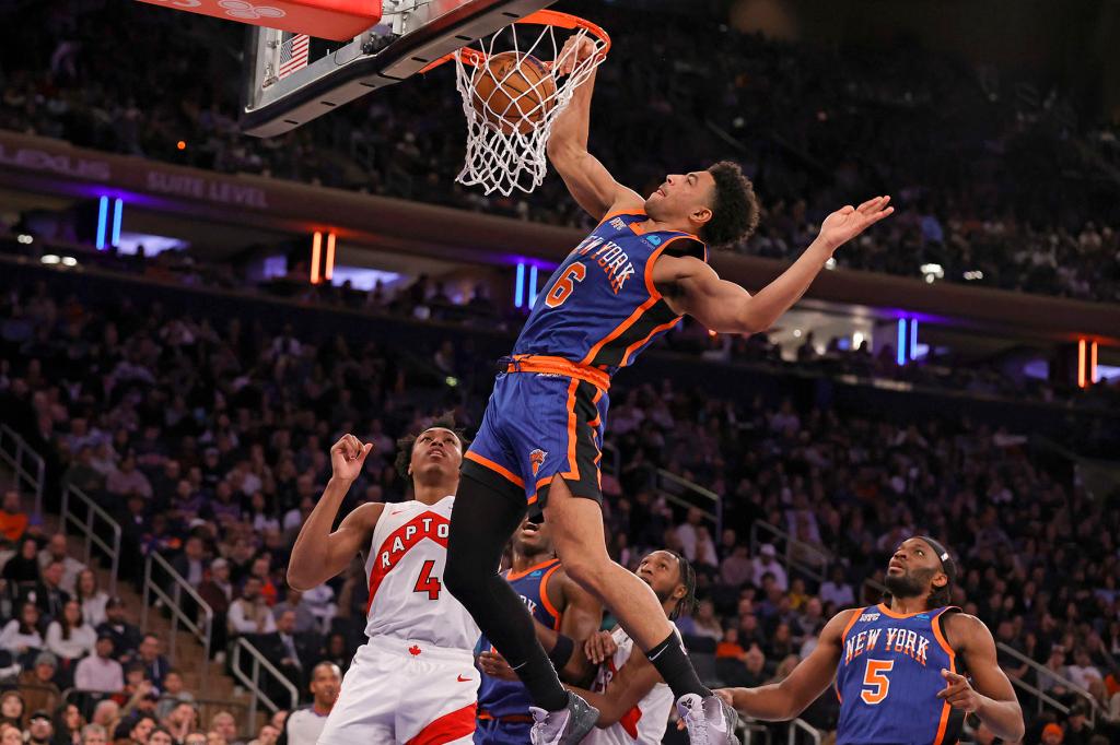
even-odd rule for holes
{"type": "Polygon", "coordinates": [[[516,671],[533,704],[559,711],[568,705],[568,691],[536,640],[524,602],[496,570],[524,511],[524,494],[495,491],[464,473],[451,510],[444,583],[516,671]]]}

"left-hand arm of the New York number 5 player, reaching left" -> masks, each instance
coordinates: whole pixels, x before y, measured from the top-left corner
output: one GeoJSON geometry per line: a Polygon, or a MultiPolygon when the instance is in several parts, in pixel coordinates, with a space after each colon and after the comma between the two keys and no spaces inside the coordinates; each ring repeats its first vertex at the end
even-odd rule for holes
{"type": "Polygon", "coordinates": [[[824,624],[816,648],[782,682],[758,688],[721,688],[725,701],[756,719],[793,719],[828,690],[843,649],[843,630],[858,610],[840,611],[824,624]]]}

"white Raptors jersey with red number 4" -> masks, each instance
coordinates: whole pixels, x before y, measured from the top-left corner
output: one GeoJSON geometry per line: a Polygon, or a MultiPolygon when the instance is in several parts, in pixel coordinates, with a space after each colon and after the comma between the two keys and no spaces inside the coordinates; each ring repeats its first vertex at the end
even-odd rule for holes
{"type": "Polygon", "coordinates": [[[365,562],[370,578],[365,633],[470,651],[479,631],[444,587],[455,497],[435,504],[385,504],[365,562]]]}

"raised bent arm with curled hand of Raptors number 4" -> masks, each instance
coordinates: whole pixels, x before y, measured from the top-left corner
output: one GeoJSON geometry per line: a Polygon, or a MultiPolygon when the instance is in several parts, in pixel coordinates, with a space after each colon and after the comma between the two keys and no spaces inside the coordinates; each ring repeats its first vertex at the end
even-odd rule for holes
{"type": "Polygon", "coordinates": [[[321,585],[345,569],[355,555],[368,547],[384,504],[367,502],[347,515],[334,532],[330,526],[372,449],[372,444],[362,444],[354,435],[343,435],[330,449],[330,465],[334,470],[330,481],[307,522],[299,529],[299,537],[291,549],[288,584],[295,590],[308,591],[321,585]]]}

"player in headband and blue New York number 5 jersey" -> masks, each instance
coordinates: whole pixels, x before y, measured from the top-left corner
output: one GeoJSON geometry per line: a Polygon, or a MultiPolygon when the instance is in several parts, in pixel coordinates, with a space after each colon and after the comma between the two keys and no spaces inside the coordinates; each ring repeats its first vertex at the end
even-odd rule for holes
{"type": "Polygon", "coordinates": [[[1023,739],[1023,711],[979,619],[949,605],[955,562],[936,540],[909,538],[887,566],[879,605],[841,611],[790,677],[717,691],[756,719],[801,714],[836,679],[837,745],[955,743],[964,715],[997,737],[1023,739]]]}

